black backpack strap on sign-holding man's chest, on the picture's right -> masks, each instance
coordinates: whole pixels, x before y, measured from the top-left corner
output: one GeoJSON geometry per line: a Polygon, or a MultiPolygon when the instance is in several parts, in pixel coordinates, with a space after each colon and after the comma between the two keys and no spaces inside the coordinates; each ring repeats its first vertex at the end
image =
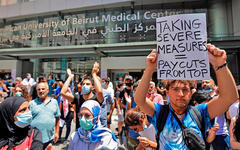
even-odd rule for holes
{"type": "Polygon", "coordinates": [[[203,119],[201,113],[194,106],[190,106],[190,110],[189,111],[190,111],[190,114],[192,115],[193,119],[196,121],[198,128],[200,129],[204,141],[206,141],[205,123],[204,123],[204,119],[203,119]]]}

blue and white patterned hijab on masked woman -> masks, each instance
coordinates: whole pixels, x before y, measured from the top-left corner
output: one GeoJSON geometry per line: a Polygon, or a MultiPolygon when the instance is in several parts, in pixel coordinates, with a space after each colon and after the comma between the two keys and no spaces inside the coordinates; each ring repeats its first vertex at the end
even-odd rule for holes
{"type": "Polygon", "coordinates": [[[102,137],[108,134],[112,134],[113,140],[117,141],[117,138],[110,129],[101,127],[100,122],[101,107],[99,103],[95,100],[87,100],[82,104],[81,109],[84,107],[87,108],[93,114],[94,125],[90,130],[83,130],[82,127],[78,128],[77,134],[79,135],[80,140],[89,143],[96,143],[100,141],[102,137]]]}

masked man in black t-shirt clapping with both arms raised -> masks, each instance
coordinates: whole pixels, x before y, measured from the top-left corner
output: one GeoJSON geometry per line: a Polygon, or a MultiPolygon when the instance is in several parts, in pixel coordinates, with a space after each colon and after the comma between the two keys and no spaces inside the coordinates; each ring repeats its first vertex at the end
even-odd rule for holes
{"type": "Polygon", "coordinates": [[[96,100],[100,104],[103,103],[103,92],[102,92],[102,86],[101,82],[99,80],[99,77],[97,76],[97,73],[99,72],[99,64],[97,62],[94,63],[93,69],[92,69],[92,78],[94,81],[94,87],[95,87],[95,92],[93,91],[93,84],[91,79],[89,78],[84,78],[82,81],[82,94],[80,93],[75,93],[74,95],[70,92],[67,91],[70,82],[72,81],[74,75],[71,73],[71,70],[68,69],[68,79],[63,85],[63,88],[61,90],[61,95],[65,99],[69,100],[72,104],[76,105],[76,129],[80,127],[79,123],[79,117],[78,113],[80,110],[80,107],[86,100],[96,100]]]}

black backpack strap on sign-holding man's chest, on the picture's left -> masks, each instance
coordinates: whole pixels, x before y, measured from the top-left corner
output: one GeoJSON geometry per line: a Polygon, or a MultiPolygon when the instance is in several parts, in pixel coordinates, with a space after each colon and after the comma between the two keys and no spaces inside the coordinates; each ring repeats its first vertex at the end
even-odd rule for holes
{"type": "Polygon", "coordinates": [[[159,149],[159,146],[160,146],[159,145],[159,136],[165,126],[168,114],[169,114],[169,105],[162,105],[161,110],[158,115],[158,118],[157,118],[157,122],[156,122],[156,125],[157,125],[157,135],[156,135],[157,150],[159,149]]]}

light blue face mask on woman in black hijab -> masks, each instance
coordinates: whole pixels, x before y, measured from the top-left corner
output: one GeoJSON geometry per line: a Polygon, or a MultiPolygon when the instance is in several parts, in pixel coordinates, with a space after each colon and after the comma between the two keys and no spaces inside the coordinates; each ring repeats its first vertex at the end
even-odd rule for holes
{"type": "Polygon", "coordinates": [[[30,125],[32,121],[32,112],[28,111],[23,114],[17,115],[17,120],[18,121],[14,122],[16,126],[20,128],[25,128],[26,126],[30,125]]]}

